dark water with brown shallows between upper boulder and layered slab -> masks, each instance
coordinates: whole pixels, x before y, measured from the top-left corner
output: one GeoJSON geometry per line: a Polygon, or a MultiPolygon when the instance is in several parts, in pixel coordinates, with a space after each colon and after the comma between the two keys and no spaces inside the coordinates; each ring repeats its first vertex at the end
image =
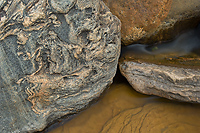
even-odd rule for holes
{"type": "Polygon", "coordinates": [[[173,41],[122,47],[121,61],[200,69],[200,24],[173,41]]]}

